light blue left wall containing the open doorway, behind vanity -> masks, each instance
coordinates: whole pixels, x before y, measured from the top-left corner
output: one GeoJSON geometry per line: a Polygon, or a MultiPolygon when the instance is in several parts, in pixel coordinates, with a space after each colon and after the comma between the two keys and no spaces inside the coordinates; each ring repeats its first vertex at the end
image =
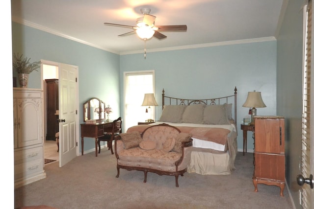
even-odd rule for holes
{"type": "MultiPolygon", "coordinates": [[[[78,66],[80,123],[83,122],[83,103],[90,97],[98,97],[109,104],[114,110],[112,118],[120,116],[119,55],[14,22],[12,45],[13,52],[30,57],[31,62],[44,59],[78,66]]],[[[28,88],[41,88],[40,72],[29,75],[28,88]]],[[[84,150],[94,148],[95,139],[84,140],[84,150]]]]}

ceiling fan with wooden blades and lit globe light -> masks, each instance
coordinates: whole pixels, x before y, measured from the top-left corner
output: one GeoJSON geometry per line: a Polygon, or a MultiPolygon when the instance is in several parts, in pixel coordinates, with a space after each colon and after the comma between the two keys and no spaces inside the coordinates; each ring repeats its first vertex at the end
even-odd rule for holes
{"type": "Polygon", "coordinates": [[[126,36],[137,33],[138,37],[143,39],[144,41],[152,38],[153,36],[159,40],[167,38],[167,36],[163,35],[159,31],[177,31],[177,32],[185,32],[187,30],[187,26],[184,25],[155,25],[156,17],[150,15],[151,9],[142,8],[141,13],[143,17],[136,19],[136,26],[124,25],[124,24],[115,24],[115,23],[104,23],[109,26],[117,26],[117,27],[126,27],[132,29],[131,32],[121,34],[119,36],[126,36]]]}

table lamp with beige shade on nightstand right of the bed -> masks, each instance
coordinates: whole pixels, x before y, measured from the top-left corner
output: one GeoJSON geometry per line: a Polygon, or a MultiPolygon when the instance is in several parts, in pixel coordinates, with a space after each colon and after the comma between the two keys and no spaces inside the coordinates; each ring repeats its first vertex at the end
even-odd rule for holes
{"type": "Polygon", "coordinates": [[[254,92],[249,92],[247,94],[247,98],[246,101],[244,102],[244,104],[242,105],[242,107],[249,107],[251,108],[251,125],[254,124],[254,117],[257,114],[256,111],[256,107],[266,107],[266,105],[264,104],[263,100],[262,100],[262,94],[261,92],[256,92],[254,90],[254,92]]]}

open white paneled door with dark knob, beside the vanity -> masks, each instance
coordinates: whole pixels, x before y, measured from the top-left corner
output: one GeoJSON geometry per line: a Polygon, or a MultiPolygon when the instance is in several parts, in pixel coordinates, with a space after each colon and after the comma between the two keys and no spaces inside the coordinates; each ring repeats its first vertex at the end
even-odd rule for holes
{"type": "Polygon", "coordinates": [[[59,167],[77,156],[78,67],[59,64],[59,167]]]}

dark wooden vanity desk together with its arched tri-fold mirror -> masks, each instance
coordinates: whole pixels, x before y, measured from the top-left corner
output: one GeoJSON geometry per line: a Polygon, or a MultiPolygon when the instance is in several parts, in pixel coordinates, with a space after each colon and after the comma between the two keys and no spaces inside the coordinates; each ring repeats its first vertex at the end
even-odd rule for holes
{"type": "Polygon", "coordinates": [[[84,137],[95,138],[96,157],[98,153],[97,140],[107,132],[112,132],[113,122],[105,120],[105,102],[93,97],[83,104],[84,123],[80,124],[81,151],[84,155],[84,137]]]}

